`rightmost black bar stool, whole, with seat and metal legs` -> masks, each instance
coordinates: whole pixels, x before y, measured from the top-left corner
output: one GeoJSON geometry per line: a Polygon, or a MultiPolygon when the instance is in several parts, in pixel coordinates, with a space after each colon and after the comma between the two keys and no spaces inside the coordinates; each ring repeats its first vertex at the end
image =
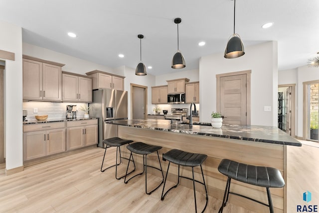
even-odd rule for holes
{"type": "Polygon", "coordinates": [[[274,213],[269,188],[282,188],[285,186],[285,181],[278,169],[264,166],[247,165],[228,159],[223,159],[218,166],[218,171],[228,177],[223,203],[218,213],[223,212],[223,208],[227,204],[229,194],[237,195],[267,206],[269,207],[270,213],[274,213]],[[237,193],[229,192],[231,179],[255,186],[265,187],[267,190],[268,205],[255,199],[248,198],[237,193]]]}

